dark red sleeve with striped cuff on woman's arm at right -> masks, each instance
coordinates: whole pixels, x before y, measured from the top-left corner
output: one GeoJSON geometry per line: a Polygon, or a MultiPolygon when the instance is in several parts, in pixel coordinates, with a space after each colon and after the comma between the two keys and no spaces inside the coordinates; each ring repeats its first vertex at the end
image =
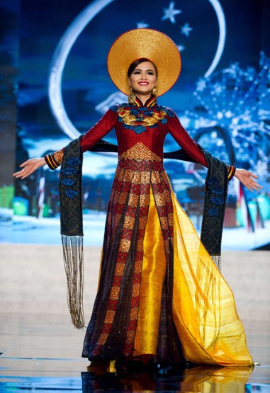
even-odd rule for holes
{"type": "MultiPolygon", "coordinates": [[[[181,146],[181,148],[184,149],[184,151],[189,154],[189,156],[191,156],[194,161],[207,167],[207,161],[205,156],[203,155],[203,152],[201,151],[201,148],[189,136],[188,132],[186,132],[184,127],[181,125],[179,118],[172,110],[169,110],[169,116],[167,120],[169,133],[172,137],[174,137],[179,146],[181,146]]],[[[228,180],[230,180],[235,174],[235,166],[227,164],[226,166],[228,180]]]]}

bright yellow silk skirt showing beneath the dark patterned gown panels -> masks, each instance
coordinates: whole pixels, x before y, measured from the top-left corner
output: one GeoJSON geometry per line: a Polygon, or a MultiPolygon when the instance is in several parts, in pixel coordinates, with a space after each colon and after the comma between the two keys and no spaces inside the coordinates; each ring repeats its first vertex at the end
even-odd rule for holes
{"type": "MultiPolygon", "coordinates": [[[[174,193],[171,197],[174,206],[173,317],[185,358],[210,365],[252,365],[232,291],[174,193]]],[[[156,355],[167,262],[152,190],[143,247],[134,355],[156,355]]]]}

